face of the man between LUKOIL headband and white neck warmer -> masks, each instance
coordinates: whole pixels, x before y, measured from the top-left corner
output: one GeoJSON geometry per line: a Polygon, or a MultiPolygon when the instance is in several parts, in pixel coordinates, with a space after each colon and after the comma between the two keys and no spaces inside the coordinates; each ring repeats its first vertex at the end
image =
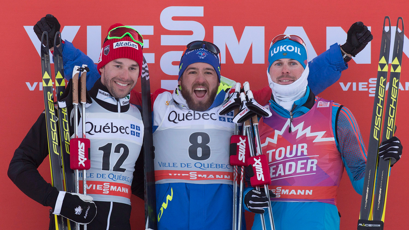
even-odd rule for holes
{"type": "Polygon", "coordinates": [[[297,60],[281,58],[272,63],[269,74],[273,82],[290,85],[301,77],[303,71],[304,67],[297,60]]]}

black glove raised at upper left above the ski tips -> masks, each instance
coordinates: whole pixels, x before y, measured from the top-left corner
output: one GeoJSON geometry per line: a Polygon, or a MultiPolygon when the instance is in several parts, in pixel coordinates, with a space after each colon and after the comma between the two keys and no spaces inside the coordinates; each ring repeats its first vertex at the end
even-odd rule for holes
{"type": "MultiPolygon", "coordinates": [[[[43,36],[44,31],[48,32],[48,46],[50,48],[54,46],[55,33],[60,31],[60,28],[61,26],[57,18],[51,14],[47,14],[45,17],[41,18],[33,27],[34,33],[36,33],[39,40],[41,40],[41,36],[43,36]]],[[[60,41],[58,40],[58,43],[59,42],[60,41]]]]}

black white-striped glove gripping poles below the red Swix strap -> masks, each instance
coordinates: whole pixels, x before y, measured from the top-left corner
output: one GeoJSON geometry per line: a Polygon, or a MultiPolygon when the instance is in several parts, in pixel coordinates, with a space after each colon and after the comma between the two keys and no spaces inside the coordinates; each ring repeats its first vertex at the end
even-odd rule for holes
{"type": "MultiPolygon", "coordinates": [[[[276,197],[276,195],[268,190],[270,197],[276,197]]],[[[257,191],[255,189],[247,192],[244,197],[244,203],[246,207],[253,213],[263,214],[264,209],[268,208],[268,202],[270,202],[265,192],[257,191]]]]}

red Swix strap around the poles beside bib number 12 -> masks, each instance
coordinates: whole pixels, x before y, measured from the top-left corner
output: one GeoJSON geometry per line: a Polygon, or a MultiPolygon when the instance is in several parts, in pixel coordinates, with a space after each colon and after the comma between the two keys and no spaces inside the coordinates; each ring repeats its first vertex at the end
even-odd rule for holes
{"type": "Polygon", "coordinates": [[[90,139],[87,138],[72,138],[70,140],[70,168],[72,170],[90,169],[90,145],[90,139]]]}

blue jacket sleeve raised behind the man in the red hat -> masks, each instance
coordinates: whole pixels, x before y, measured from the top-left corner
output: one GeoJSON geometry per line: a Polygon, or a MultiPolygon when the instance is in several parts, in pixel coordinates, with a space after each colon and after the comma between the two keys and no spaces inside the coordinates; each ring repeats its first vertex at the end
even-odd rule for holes
{"type": "Polygon", "coordinates": [[[72,78],[72,69],[74,69],[74,66],[88,65],[90,71],[87,73],[87,90],[90,90],[98,78],[101,77],[97,65],[94,64],[91,58],[86,56],[81,50],[76,49],[74,45],[67,40],[63,43],[62,50],[65,79],[70,80],[72,78]]]}

